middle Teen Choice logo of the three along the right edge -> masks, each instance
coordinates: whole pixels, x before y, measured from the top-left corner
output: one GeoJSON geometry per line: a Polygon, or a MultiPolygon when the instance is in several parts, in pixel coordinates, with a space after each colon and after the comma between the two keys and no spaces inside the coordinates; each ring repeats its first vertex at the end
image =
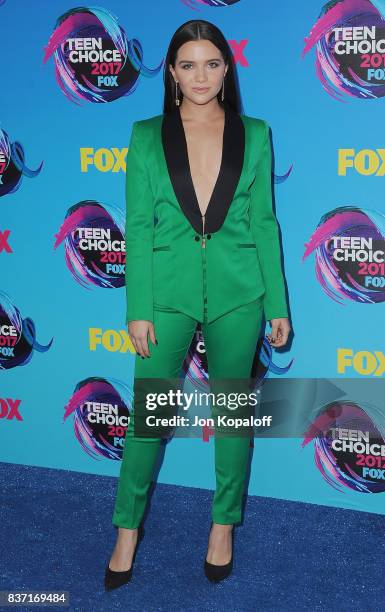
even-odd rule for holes
{"type": "Polygon", "coordinates": [[[345,206],[326,213],[305,244],[302,260],[315,252],[316,277],[336,302],[385,300],[385,217],[345,206]]]}

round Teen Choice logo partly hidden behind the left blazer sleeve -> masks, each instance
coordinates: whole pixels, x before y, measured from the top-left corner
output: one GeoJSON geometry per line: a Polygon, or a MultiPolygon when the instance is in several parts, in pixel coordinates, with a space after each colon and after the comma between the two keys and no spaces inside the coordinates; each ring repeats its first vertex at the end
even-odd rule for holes
{"type": "Polygon", "coordinates": [[[123,287],[126,265],[123,232],[120,209],[84,200],[68,210],[55,234],[54,248],[64,241],[67,267],[83,287],[123,287]]]}

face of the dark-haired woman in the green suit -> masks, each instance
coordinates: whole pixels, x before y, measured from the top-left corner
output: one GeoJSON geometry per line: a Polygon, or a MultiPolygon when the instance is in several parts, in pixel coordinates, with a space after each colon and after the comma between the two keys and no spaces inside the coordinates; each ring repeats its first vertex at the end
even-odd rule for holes
{"type": "Polygon", "coordinates": [[[219,49],[209,40],[191,40],[179,47],[175,69],[170,71],[183,96],[195,104],[206,104],[222,88],[227,66],[219,49]]]}

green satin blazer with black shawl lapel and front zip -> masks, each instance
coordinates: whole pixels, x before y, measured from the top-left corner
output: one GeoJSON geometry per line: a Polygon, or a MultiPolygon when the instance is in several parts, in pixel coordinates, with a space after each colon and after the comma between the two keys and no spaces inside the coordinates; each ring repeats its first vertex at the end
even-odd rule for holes
{"type": "Polygon", "coordinates": [[[225,108],[220,172],[202,217],[180,110],[135,121],[126,166],[126,322],[154,304],[208,322],[263,295],[287,317],[266,121],[225,108]],[[206,274],[204,274],[204,268],[206,274]]]}

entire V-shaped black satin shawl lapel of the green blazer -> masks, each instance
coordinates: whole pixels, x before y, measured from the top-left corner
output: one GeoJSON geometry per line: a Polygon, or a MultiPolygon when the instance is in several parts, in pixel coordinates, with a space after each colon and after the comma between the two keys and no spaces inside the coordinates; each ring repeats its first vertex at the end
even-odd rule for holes
{"type": "MultiPolygon", "coordinates": [[[[222,227],[243,170],[244,124],[239,114],[230,108],[226,107],[225,113],[222,162],[205,214],[205,233],[217,232],[222,227]]],[[[163,116],[162,145],[178,203],[194,230],[201,234],[202,217],[190,174],[179,108],[163,116]]]]}

